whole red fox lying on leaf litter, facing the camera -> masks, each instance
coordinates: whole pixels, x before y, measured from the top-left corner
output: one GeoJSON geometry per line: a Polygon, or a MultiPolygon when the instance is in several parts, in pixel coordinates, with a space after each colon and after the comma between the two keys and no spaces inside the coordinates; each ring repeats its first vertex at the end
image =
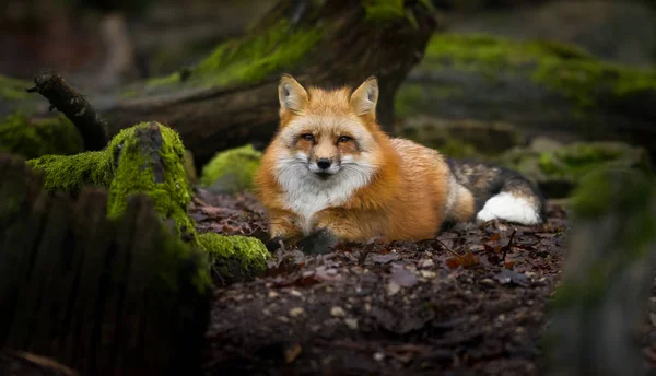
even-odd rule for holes
{"type": "Polygon", "coordinates": [[[383,132],[375,77],[355,90],[306,90],[283,74],[278,96],[280,126],[255,176],[269,245],[296,239],[327,252],[341,242],[434,238],[475,219],[543,221],[543,198],[519,173],[383,132]]]}

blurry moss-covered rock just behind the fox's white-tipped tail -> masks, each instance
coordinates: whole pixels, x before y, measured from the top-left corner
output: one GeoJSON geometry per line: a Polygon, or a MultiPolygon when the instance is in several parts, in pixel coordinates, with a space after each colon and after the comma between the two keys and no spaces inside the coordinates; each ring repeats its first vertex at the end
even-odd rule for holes
{"type": "Polygon", "coordinates": [[[514,148],[496,162],[516,169],[538,184],[549,197],[565,197],[582,177],[598,168],[636,168],[652,171],[644,148],[622,142],[576,142],[567,145],[538,142],[529,148],[514,148]]]}

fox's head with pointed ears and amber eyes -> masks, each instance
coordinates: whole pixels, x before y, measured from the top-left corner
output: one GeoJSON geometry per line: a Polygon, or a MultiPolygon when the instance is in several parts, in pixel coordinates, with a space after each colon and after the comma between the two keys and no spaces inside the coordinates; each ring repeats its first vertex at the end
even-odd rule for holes
{"type": "Polygon", "coordinates": [[[368,181],[379,158],[375,77],[355,90],[327,91],[306,90],[293,77],[283,74],[278,96],[278,139],[285,154],[281,168],[319,184],[368,181]]]}

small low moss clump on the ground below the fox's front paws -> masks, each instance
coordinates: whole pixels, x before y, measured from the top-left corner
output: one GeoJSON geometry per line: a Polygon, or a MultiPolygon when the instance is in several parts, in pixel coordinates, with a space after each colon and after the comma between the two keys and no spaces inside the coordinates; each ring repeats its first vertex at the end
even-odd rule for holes
{"type": "Polygon", "coordinates": [[[203,233],[198,238],[208,251],[213,274],[223,282],[247,280],[267,268],[270,254],[255,237],[203,233]]]}

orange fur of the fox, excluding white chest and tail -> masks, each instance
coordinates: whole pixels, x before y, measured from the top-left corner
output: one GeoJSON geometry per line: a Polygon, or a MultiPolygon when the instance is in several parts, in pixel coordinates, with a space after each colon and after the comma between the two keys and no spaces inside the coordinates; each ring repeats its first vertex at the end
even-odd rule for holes
{"type": "Polygon", "coordinates": [[[257,193],[270,218],[271,237],[300,237],[327,228],[341,240],[421,240],[434,237],[446,218],[466,221],[473,216],[471,193],[455,184],[440,153],[380,130],[375,119],[375,79],[355,91],[306,91],[283,75],[279,96],[280,127],[255,176],[257,193]],[[292,137],[308,132],[314,139],[292,137]],[[343,134],[353,139],[341,142],[343,134]],[[371,176],[339,204],[316,211],[312,219],[302,218],[285,203],[280,181],[280,161],[296,154],[308,155],[308,163],[319,157],[363,158],[360,165],[371,167],[371,176]],[[446,204],[449,195],[455,199],[450,207],[446,204]],[[304,224],[307,221],[309,225],[304,224]]]}

